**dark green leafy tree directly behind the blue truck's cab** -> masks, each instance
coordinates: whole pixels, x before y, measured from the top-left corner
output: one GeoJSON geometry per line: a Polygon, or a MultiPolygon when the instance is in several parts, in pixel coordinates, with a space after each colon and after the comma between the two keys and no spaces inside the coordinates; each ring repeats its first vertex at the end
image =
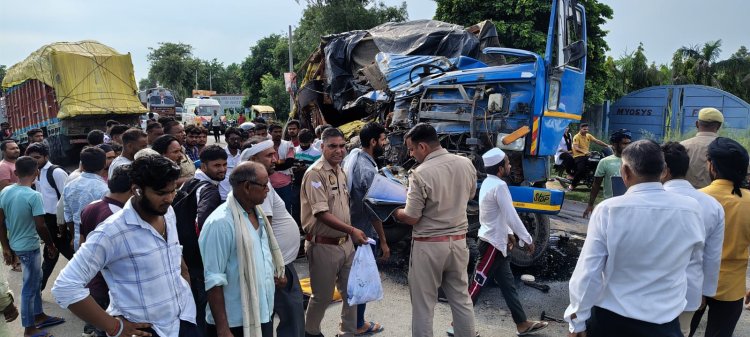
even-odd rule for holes
{"type": "MultiPolygon", "coordinates": [[[[530,50],[543,54],[551,10],[550,1],[536,0],[435,0],[435,19],[470,26],[483,20],[492,20],[497,27],[500,43],[507,47],[530,50]]],[[[606,88],[611,87],[605,67],[609,50],[604,37],[604,23],[612,19],[612,8],[597,0],[579,0],[586,8],[588,36],[585,102],[602,102],[606,88]]]]}

